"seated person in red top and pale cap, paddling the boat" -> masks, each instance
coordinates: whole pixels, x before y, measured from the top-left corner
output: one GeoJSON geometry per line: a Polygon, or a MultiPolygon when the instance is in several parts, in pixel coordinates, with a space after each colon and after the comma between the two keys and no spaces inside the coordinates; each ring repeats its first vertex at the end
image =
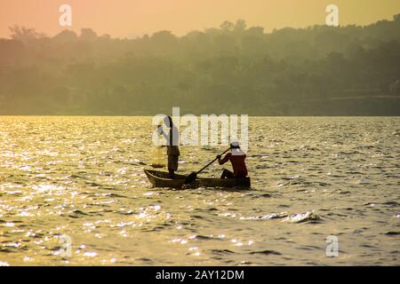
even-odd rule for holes
{"type": "Polygon", "coordinates": [[[238,142],[232,142],[230,144],[230,152],[231,153],[226,154],[223,159],[221,159],[220,155],[218,155],[217,158],[220,165],[223,165],[224,163],[230,161],[234,172],[224,169],[220,178],[246,177],[247,168],[246,163],[244,162],[246,154],[244,154],[244,152],[240,149],[238,142]]]}

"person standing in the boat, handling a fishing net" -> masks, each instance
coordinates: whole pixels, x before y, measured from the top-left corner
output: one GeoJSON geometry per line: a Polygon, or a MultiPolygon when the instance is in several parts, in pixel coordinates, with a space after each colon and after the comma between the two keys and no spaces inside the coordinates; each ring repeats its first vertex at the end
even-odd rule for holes
{"type": "Polygon", "coordinates": [[[165,146],[167,147],[168,155],[168,172],[170,173],[170,178],[175,176],[175,171],[178,170],[178,161],[180,157],[179,148],[179,132],[178,128],[173,124],[171,116],[164,117],[164,124],[170,130],[168,134],[164,132],[163,127],[158,125],[158,134],[163,134],[165,138],[165,146]]]}

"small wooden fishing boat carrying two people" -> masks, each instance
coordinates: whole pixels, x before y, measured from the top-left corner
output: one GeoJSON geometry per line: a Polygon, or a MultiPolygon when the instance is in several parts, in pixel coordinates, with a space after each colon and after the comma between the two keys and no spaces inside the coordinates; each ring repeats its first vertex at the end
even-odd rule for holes
{"type": "Polygon", "coordinates": [[[240,187],[250,188],[250,177],[238,178],[201,178],[197,177],[196,180],[189,184],[184,185],[187,176],[177,175],[172,179],[169,177],[168,172],[158,170],[144,170],[148,180],[154,187],[171,187],[171,188],[198,188],[198,187],[240,187]]]}

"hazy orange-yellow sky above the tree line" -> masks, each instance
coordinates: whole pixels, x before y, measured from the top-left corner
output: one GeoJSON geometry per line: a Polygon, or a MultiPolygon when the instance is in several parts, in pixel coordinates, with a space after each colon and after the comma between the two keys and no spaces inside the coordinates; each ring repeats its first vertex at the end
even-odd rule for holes
{"type": "Polygon", "coordinates": [[[0,37],[8,37],[8,27],[13,25],[56,35],[65,29],[59,25],[60,4],[72,7],[68,29],[92,28],[113,37],[162,29],[183,35],[237,19],[267,31],[303,28],[324,24],[327,4],[339,6],[340,25],[366,25],[400,13],[400,0],[0,0],[0,37]]]}

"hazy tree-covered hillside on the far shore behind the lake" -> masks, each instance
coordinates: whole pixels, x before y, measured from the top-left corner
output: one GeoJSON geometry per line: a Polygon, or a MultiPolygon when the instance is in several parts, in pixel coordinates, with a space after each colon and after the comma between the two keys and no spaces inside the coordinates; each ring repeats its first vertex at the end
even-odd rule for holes
{"type": "Polygon", "coordinates": [[[244,20],[174,36],[0,39],[0,114],[399,115],[400,14],[365,27],[244,20]]]}

